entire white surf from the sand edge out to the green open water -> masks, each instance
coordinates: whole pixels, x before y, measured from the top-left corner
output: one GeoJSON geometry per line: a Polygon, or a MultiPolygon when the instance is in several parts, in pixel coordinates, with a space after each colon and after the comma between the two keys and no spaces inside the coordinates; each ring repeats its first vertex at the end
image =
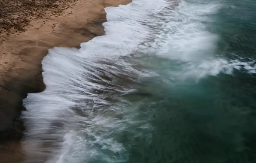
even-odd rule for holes
{"type": "Polygon", "coordinates": [[[155,130],[154,111],[131,100],[162,96],[145,85],[174,87],[234,69],[255,73],[253,60],[214,55],[219,36],[206,24],[220,6],[133,0],[105,9],[104,36],[80,49],[50,49],[42,62],[46,89],[23,103],[25,162],[127,162],[135,139],[150,144],[155,130]]]}

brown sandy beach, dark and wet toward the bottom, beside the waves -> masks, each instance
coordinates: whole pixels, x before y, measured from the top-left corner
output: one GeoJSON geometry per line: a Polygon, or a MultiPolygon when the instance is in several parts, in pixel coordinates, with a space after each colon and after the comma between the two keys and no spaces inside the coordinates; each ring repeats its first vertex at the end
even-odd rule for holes
{"type": "Polygon", "coordinates": [[[104,8],[131,0],[46,0],[38,3],[41,6],[24,0],[28,5],[19,8],[22,2],[0,2],[2,8],[16,5],[0,15],[0,163],[18,163],[24,158],[19,141],[24,127],[18,117],[25,110],[22,100],[27,93],[45,88],[41,61],[48,49],[79,48],[81,42],[104,35],[104,8]]]}

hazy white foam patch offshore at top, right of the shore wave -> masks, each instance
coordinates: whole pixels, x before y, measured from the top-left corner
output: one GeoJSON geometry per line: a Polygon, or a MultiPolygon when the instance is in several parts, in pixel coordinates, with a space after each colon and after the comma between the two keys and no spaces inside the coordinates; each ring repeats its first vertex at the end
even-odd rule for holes
{"type": "Polygon", "coordinates": [[[218,36],[206,29],[207,15],[218,12],[219,4],[200,4],[182,1],[175,12],[166,14],[158,27],[159,33],[151,45],[151,51],[168,59],[194,61],[208,57],[215,49],[218,36]],[[204,56],[205,55],[205,56],[204,56]]]}

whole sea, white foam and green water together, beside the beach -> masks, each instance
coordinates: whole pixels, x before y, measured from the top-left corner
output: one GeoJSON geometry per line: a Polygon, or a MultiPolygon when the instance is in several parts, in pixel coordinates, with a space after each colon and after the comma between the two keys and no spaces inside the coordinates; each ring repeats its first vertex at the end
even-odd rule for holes
{"type": "Polygon", "coordinates": [[[133,0],[43,60],[25,163],[255,163],[256,4],[133,0]]]}

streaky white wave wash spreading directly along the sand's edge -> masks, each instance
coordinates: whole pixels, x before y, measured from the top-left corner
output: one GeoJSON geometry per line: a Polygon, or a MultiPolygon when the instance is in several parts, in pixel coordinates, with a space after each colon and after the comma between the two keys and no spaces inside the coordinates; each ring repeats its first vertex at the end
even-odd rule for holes
{"type": "MultiPolygon", "coordinates": [[[[28,94],[22,113],[26,163],[124,162],[137,136],[150,138],[146,112],[122,96],[132,83],[152,76],[129,63],[140,44],[152,37],[147,23],[169,6],[165,0],[134,0],[108,7],[105,35],[80,49],[52,48],[43,59],[43,92],[28,94]]],[[[154,21],[158,21],[157,18],[154,21]]]]}

